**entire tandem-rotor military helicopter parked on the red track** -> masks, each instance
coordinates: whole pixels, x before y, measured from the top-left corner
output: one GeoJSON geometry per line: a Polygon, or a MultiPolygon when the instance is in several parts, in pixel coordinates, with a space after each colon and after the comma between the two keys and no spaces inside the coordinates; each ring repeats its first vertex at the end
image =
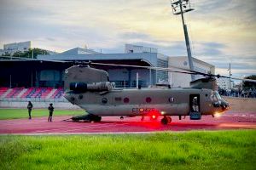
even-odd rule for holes
{"type": "MultiPolygon", "coordinates": [[[[200,120],[201,116],[224,113],[229,103],[217,92],[215,77],[197,71],[175,71],[186,74],[207,76],[190,82],[189,88],[171,88],[160,86],[154,88],[114,88],[109,82],[108,72],[91,68],[90,65],[112,65],[88,63],[74,65],[65,71],[64,97],[73,105],[84,109],[88,115],[73,116],[74,122],[101,122],[102,116],[149,116],[152,121],[162,117],[160,122],[172,122],[171,116],[189,116],[191,120],[200,120]]],[[[119,65],[120,66],[120,65],[119,65]]],[[[137,66],[161,71],[174,71],[170,68],[137,66]]]]}

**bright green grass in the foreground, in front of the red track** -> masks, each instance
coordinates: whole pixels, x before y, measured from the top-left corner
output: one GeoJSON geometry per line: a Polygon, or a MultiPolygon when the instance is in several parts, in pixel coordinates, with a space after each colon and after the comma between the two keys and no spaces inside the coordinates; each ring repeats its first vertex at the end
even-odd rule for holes
{"type": "Polygon", "coordinates": [[[255,169],[256,131],[0,136],[0,169],[255,169]]]}

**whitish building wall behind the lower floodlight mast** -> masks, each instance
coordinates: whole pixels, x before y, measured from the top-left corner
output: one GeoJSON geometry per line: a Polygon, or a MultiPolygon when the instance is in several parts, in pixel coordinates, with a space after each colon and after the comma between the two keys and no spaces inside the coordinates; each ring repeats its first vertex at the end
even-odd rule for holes
{"type": "MultiPolygon", "coordinates": [[[[200,59],[192,58],[193,65],[195,71],[200,71],[202,73],[211,73],[215,74],[215,66],[211,65],[207,62],[204,62],[200,59]]],[[[180,57],[169,57],[169,67],[178,67],[182,69],[189,69],[189,59],[187,56],[180,56],[180,57]]],[[[176,71],[183,71],[174,69],[176,71]]],[[[191,82],[191,75],[183,74],[183,73],[175,73],[169,72],[168,79],[173,88],[186,88],[189,87],[189,83],[191,82]]],[[[202,78],[201,75],[195,75],[195,79],[202,78]]]]}

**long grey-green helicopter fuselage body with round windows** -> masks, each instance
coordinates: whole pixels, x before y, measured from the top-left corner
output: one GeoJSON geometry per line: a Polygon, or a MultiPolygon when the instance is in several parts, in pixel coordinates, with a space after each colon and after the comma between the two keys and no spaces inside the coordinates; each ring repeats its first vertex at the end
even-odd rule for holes
{"type": "Polygon", "coordinates": [[[188,116],[193,110],[201,115],[223,112],[220,105],[214,105],[221,103],[215,93],[211,89],[195,88],[134,88],[108,92],[68,91],[65,98],[96,116],[147,116],[152,112],[161,116],[188,116]]]}

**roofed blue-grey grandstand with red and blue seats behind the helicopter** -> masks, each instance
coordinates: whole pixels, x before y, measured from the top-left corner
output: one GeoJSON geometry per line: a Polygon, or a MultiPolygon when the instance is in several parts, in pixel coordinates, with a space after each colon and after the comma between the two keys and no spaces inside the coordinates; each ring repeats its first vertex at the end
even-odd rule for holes
{"type": "MultiPolygon", "coordinates": [[[[64,99],[64,75],[65,70],[75,61],[111,63],[118,65],[142,65],[153,67],[168,67],[175,63],[172,57],[158,53],[157,48],[125,45],[124,54],[102,54],[87,48],[73,48],[61,54],[38,55],[37,59],[17,59],[0,56],[0,99],[1,100],[35,100],[35,101],[67,101],[64,99]]],[[[178,58],[180,59],[180,58],[178,58]]],[[[177,59],[175,59],[176,61],[177,59]]],[[[198,60],[198,59],[197,59],[198,60]]],[[[195,60],[195,61],[197,61],[195,60]]],[[[176,66],[187,66],[183,63],[187,58],[181,58],[176,66]]],[[[213,65],[199,67],[206,71],[212,70],[213,65]]],[[[137,67],[90,65],[91,67],[108,71],[110,82],[115,82],[116,88],[136,88],[138,84],[142,88],[156,83],[170,83],[179,87],[184,79],[175,79],[174,74],[168,75],[167,71],[154,71],[137,67]],[[174,81],[175,80],[175,81],[174,81]],[[175,82],[175,83],[174,83],[175,82]]],[[[211,71],[214,73],[214,71],[211,71]]],[[[186,78],[189,85],[191,79],[186,78]]]]}

